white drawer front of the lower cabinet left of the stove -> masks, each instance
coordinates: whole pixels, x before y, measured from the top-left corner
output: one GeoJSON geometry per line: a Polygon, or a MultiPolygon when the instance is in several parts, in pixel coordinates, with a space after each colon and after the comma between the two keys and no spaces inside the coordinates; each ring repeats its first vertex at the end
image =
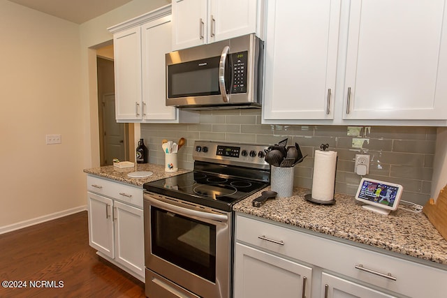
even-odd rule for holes
{"type": "Polygon", "coordinates": [[[87,190],[142,209],[142,188],[87,176],[87,190]]]}

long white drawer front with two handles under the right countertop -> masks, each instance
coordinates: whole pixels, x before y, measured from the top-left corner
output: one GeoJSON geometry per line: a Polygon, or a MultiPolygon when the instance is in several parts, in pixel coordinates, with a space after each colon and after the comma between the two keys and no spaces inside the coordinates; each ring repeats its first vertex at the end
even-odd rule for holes
{"type": "Polygon", "coordinates": [[[332,271],[409,297],[441,297],[447,292],[445,270],[280,225],[238,215],[236,239],[321,267],[323,271],[332,271]],[[360,265],[376,273],[391,274],[396,280],[356,269],[360,265]],[[427,291],[430,291],[428,296],[427,291]]]}

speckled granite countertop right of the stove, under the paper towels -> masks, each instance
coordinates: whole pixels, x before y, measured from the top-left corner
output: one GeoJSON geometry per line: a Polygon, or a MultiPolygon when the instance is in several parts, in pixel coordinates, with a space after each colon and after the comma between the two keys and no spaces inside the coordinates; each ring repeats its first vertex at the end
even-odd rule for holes
{"type": "Polygon", "coordinates": [[[238,202],[233,210],[447,265],[447,241],[423,213],[397,209],[383,216],[342,194],[335,194],[333,205],[314,204],[305,200],[311,193],[305,188],[294,188],[291,198],[267,200],[261,207],[253,207],[251,201],[261,192],[238,202]]]}

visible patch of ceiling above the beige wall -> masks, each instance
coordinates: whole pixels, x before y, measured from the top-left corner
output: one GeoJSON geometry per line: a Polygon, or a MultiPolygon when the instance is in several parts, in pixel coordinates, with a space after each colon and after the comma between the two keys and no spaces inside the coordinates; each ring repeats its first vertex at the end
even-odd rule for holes
{"type": "Polygon", "coordinates": [[[132,0],[9,0],[22,6],[82,24],[132,0]]]}

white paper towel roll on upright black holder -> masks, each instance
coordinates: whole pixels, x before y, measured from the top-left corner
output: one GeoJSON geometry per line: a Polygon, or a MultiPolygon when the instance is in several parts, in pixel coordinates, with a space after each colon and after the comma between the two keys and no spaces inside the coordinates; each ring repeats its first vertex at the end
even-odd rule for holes
{"type": "Polygon", "coordinates": [[[334,199],[336,151],[315,151],[312,198],[321,201],[334,199]]]}

